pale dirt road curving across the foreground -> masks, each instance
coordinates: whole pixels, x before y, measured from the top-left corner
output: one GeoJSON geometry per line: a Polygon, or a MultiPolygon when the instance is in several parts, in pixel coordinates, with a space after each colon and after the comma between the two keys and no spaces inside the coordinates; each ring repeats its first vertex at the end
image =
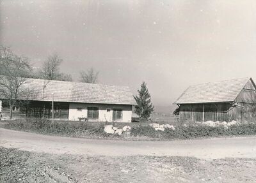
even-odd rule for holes
{"type": "Polygon", "coordinates": [[[169,142],[92,140],[26,133],[0,128],[0,146],[32,152],[88,156],[186,156],[200,159],[256,158],[256,137],[169,142]]]}

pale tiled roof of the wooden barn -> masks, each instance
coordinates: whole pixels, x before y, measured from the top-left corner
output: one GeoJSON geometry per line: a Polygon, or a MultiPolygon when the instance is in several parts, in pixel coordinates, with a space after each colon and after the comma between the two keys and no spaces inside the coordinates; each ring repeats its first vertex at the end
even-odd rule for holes
{"type": "MultiPolygon", "coordinates": [[[[252,78],[237,78],[189,86],[175,104],[232,102],[252,78]]],[[[253,80],[253,85],[255,86],[253,80]]]]}

